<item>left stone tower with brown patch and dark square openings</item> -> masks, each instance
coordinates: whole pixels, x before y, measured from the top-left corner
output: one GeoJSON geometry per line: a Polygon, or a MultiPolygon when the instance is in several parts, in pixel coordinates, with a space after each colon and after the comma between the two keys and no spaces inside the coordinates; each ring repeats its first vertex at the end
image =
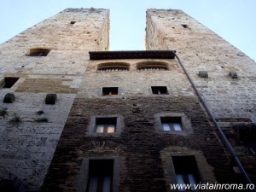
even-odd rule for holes
{"type": "Polygon", "coordinates": [[[40,188],[88,52],[108,49],[108,28],[106,9],[66,9],[1,44],[1,178],[19,177],[28,191],[40,188]],[[46,104],[47,94],[56,94],[48,96],[55,104],[46,104]]]}

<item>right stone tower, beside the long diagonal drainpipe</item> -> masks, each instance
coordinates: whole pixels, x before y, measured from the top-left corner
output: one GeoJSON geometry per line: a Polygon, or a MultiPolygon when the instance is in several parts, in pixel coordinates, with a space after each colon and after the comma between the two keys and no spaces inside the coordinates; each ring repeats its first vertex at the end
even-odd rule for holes
{"type": "Polygon", "coordinates": [[[181,10],[148,9],[146,47],[177,51],[199,94],[255,183],[255,61],[181,10]],[[201,78],[200,72],[208,76],[201,78]]]}

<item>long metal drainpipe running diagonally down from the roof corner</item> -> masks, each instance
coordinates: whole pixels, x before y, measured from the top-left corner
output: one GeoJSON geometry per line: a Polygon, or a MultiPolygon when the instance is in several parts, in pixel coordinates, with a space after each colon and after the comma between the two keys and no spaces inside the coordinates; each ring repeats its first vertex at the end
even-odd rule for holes
{"type": "MultiPolygon", "coordinates": [[[[225,137],[224,132],[222,131],[222,129],[221,129],[220,126],[218,125],[216,119],[213,117],[212,112],[211,112],[210,109],[207,107],[207,103],[204,101],[204,99],[203,99],[202,96],[200,95],[200,93],[199,93],[199,91],[197,90],[197,88],[196,88],[196,86],[195,86],[193,80],[190,78],[189,73],[187,72],[186,68],[183,66],[182,61],[179,60],[179,58],[178,58],[178,56],[176,55],[175,52],[173,52],[173,53],[175,54],[175,56],[176,56],[176,58],[177,58],[177,61],[179,62],[180,66],[183,68],[183,72],[186,74],[187,78],[189,79],[189,82],[190,82],[190,84],[192,85],[193,89],[195,90],[196,95],[199,97],[199,99],[200,99],[201,103],[203,104],[204,108],[207,110],[207,113],[208,113],[208,115],[210,116],[210,118],[212,119],[213,124],[217,127],[220,136],[221,136],[221,137],[223,138],[223,140],[224,140],[224,143],[225,143],[226,146],[229,148],[230,153],[232,154],[234,160],[236,161],[236,164],[237,164],[237,166],[239,167],[239,169],[240,169],[240,171],[241,171],[243,177],[246,178],[247,183],[253,184],[253,182],[251,181],[251,179],[248,177],[247,172],[244,170],[243,166],[241,165],[240,160],[237,158],[236,153],[235,153],[234,149],[232,148],[230,142],[228,141],[227,137],[225,137]]],[[[253,191],[256,192],[256,189],[253,189],[253,191]]]]}

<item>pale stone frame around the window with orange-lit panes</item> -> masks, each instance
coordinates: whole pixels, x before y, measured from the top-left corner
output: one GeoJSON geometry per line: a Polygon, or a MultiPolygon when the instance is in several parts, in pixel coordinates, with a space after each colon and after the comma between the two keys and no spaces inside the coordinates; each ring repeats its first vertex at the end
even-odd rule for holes
{"type": "Polygon", "coordinates": [[[94,115],[90,118],[90,124],[88,127],[88,134],[92,136],[119,136],[120,132],[122,131],[123,125],[123,116],[119,114],[111,114],[111,115],[94,115]],[[107,133],[97,133],[96,132],[96,119],[100,118],[109,118],[113,119],[116,118],[116,125],[115,125],[115,132],[107,133]]]}

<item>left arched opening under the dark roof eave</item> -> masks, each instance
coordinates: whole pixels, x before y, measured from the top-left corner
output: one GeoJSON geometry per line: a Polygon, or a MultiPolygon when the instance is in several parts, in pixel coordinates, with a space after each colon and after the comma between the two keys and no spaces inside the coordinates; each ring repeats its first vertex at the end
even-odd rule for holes
{"type": "Polygon", "coordinates": [[[129,64],[125,62],[108,62],[98,65],[97,72],[129,71],[129,64]]]}

